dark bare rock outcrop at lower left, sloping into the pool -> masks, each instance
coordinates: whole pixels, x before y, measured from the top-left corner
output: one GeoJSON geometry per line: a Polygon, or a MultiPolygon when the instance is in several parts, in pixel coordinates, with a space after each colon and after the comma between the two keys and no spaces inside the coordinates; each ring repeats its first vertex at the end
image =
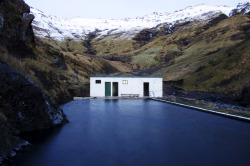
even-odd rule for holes
{"type": "Polygon", "coordinates": [[[62,110],[36,84],[0,61],[0,157],[18,145],[14,135],[65,121],[62,110]]]}

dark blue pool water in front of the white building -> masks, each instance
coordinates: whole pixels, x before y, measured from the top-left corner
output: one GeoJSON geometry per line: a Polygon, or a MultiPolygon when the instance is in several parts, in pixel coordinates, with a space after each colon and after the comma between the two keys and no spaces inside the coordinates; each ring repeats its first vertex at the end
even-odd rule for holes
{"type": "Polygon", "coordinates": [[[83,100],[34,133],[20,166],[249,166],[250,123],[152,100],[83,100]]]}

